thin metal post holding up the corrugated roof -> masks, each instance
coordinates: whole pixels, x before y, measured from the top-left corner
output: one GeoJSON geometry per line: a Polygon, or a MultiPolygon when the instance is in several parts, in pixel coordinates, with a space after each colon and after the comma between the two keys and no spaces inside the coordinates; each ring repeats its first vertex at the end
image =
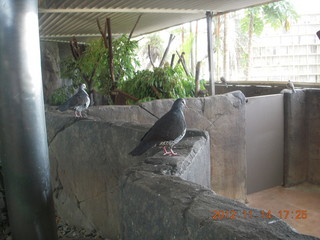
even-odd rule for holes
{"type": "Polygon", "coordinates": [[[214,66],[213,66],[213,43],[212,43],[212,12],[206,12],[207,16],[207,37],[208,37],[208,60],[209,60],[209,94],[215,95],[214,88],[214,66]]]}

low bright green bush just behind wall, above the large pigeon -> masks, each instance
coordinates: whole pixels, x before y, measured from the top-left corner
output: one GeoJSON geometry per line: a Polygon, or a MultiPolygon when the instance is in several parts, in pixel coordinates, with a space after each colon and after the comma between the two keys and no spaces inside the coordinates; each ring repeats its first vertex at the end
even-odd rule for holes
{"type": "MultiPolygon", "coordinates": [[[[204,86],[202,86],[204,88],[204,86]]],[[[175,68],[165,66],[153,71],[138,71],[135,76],[123,82],[120,89],[142,101],[157,98],[183,98],[195,95],[193,77],[188,77],[179,65],[175,68]]]]}

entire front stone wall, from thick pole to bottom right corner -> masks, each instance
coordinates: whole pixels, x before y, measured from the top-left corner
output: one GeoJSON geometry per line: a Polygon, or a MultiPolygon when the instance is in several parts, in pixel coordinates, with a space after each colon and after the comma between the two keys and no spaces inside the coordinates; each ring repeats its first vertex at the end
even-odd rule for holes
{"type": "Polygon", "coordinates": [[[148,127],[53,112],[46,120],[56,210],[71,225],[125,240],[317,239],[206,188],[210,181],[200,174],[209,176],[206,132],[189,130],[178,157],[156,149],[131,157],[148,127]]]}

